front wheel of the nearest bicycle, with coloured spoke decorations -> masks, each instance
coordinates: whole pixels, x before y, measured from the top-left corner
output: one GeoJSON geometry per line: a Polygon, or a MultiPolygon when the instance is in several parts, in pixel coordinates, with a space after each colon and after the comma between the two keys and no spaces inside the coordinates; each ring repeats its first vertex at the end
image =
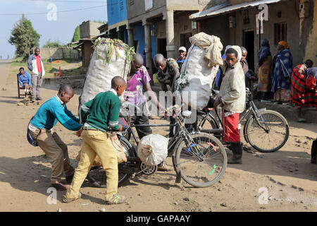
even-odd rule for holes
{"type": "Polygon", "coordinates": [[[188,184],[211,186],[225,173],[227,153],[222,143],[208,133],[191,135],[192,143],[182,141],[176,150],[175,165],[188,184]]]}

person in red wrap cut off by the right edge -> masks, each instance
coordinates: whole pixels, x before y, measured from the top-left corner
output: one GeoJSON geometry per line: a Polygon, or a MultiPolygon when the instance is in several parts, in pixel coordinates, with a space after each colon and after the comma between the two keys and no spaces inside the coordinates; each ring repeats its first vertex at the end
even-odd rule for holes
{"type": "Polygon", "coordinates": [[[316,107],[317,110],[317,68],[306,70],[306,93],[303,97],[304,106],[316,107]]]}

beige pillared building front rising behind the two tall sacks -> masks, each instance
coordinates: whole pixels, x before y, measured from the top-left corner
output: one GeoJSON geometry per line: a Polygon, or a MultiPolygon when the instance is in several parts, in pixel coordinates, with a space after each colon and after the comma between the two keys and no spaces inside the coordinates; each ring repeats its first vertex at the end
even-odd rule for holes
{"type": "Polygon", "coordinates": [[[188,38],[196,32],[189,15],[203,10],[209,0],[126,0],[128,44],[145,54],[146,65],[153,71],[156,53],[178,57],[180,46],[189,47],[188,38]]]}

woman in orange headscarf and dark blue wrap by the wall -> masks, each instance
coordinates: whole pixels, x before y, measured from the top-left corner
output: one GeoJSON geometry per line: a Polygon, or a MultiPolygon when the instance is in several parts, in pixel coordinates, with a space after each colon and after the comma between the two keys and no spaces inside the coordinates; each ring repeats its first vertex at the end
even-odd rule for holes
{"type": "Polygon", "coordinates": [[[275,54],[272,62],[272,88],[274,100],[278,104],[287,105],[290,101],[291,76],[293,69],[293,58],[287,42],[278,42],[278,54],[275,54]]]}

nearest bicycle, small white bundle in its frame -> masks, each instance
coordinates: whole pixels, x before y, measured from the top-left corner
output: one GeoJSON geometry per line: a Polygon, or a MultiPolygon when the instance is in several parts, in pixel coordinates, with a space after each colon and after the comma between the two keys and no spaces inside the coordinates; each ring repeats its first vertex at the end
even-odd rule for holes
{"type": "MultiPolygon", "coordinates": [[[[180,107],[170,107],[175,112],[176,122],[170,124],[149,124],[149,125],[131,125],[123,132],[116,132],[121,145],[125,148],[125,155],[128,161],[118,165],[118,186],[122,186],[128,182],[130,177],[136,174],[154,174],[157,165],[144,165],[137,157],[135,145],[132,145],[125,134],[130,132],[136,144],[139,141],[135,136],[133,127],[137,126],[176,126],[176,133],[173,138],[168,141],[168,157],[172,157],[173,167],[176,172],[176,183],[180,183],[184,179],[188,184],[195,187],[208,187],[223,176],[227,167],[227,154],[223,144],[208,133],[194,131],[189,133],[185,129],[184,119],[189,118],[192,112],[180,110],[180,107]]],[[[125,117],[128,125],[130,125],[131,115],[125,117]]],[[[94,168],[90,170],[87,179],[94,186],[102,187],[106,184],[106,174],[102,168],[94,168]]]]}

